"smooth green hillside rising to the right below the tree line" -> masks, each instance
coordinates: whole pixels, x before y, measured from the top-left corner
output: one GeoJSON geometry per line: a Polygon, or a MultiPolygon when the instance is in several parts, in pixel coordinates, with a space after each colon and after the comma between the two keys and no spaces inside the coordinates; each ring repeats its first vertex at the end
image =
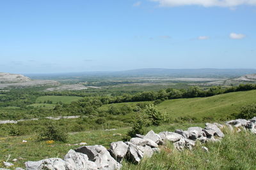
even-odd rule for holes
{"type": "Polygon", "coordinates": [[[170,118],[191,116],[222,119],[237,113],[242,106],[250,103],[256,103],[256,90],[212,97],[173,99],[164,101],[157,107],[161,111],[166,111],[170,118]]]}

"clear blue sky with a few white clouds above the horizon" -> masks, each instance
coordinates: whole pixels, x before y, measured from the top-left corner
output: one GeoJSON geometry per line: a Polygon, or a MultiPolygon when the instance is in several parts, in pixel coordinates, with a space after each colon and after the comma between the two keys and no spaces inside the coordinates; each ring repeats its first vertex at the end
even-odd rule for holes
{"type": "Polygon", "coordinates": [[[256,69],[256,0],[2,0],[0,72],[256,69]]]}

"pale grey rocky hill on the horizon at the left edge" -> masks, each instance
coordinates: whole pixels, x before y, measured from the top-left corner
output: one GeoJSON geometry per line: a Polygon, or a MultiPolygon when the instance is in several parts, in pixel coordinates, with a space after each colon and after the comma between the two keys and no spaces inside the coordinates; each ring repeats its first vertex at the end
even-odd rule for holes
{"type": "Polygon", "coordinates": [[[0,83],[20,83],[25,81],[31,80],[22,74],[0,73],[0,83]]]}

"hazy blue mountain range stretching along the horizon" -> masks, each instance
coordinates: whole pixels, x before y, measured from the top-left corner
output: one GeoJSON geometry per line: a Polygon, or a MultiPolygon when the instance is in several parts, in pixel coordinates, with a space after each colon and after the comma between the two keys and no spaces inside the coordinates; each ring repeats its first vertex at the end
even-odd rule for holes
{"type": "Polygon", "coordinates": [[[30,78],[73,77],[73,76],[168,76],[173,78],[237,78],[255,74],[256,69],[132,69],[127,71],[98,71],[80,73],[26,74],[30,78]]]}

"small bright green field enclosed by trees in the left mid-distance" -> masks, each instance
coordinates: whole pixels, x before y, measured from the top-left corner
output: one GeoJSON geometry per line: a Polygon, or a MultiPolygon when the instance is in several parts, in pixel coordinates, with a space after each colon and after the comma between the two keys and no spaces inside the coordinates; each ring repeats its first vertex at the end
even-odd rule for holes
{"type": "Polygon", "coordinates": [[[52,101],[53,104],[62,102],[65,104],[71,103],[72,101],[77,101],[82,99],[82,97],[77,96],[41,96],[36,99],[36,103],[44,103],[44,101],[52,101]]]}

